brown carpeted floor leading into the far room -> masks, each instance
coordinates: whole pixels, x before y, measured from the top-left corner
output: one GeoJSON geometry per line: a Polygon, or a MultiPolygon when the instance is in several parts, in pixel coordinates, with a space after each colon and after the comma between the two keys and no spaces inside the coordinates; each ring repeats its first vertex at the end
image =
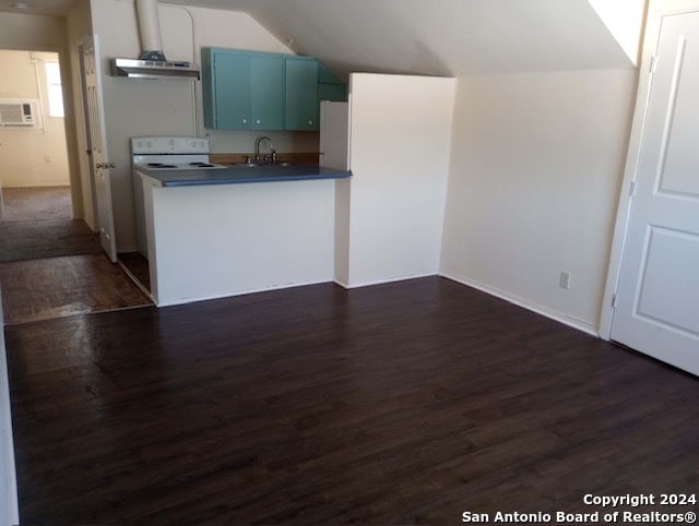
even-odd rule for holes
{"type": "Polygon", "coordinates": [[[70,188],[3,189],[0,262],[37,260],[102,251],[99,236],[72,219],[70,188]]]}

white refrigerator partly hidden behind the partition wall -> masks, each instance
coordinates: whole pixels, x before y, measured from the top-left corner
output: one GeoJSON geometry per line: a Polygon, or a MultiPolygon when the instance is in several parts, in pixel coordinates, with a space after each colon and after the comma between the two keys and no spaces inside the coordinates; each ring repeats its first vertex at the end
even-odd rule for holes
{"type": "Polygon", "coordinates": [[[350,104],[320,103],[320,158],[318,164],[335,170],[350,169],[350,104]]]}

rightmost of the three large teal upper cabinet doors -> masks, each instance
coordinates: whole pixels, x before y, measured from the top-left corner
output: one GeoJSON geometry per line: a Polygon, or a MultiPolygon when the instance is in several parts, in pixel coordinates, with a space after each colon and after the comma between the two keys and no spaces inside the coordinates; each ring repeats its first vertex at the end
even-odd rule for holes
{"type": "Polygon", "coordinates": [[[318,61],[286,59],[286,129],[318,130],[318,61]]]}

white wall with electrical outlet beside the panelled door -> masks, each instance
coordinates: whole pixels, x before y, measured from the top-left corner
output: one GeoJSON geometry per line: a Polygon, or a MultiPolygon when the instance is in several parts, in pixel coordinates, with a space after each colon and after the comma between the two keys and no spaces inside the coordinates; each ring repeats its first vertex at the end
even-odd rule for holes
{"type": "Polygon", "coordinates": [[[596,332],[636,77],[459,80],[443,275],[596,332]]]}

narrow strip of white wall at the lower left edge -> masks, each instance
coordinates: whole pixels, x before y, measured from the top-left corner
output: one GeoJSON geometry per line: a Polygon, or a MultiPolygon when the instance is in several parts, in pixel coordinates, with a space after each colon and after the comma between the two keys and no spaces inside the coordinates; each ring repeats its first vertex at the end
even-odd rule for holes
{"type": "Polygon", "coordinates": [[[0,526],[11,526],[20,524],[20,510],[3,327],[2,309],[0,309],[0,526]]]}

